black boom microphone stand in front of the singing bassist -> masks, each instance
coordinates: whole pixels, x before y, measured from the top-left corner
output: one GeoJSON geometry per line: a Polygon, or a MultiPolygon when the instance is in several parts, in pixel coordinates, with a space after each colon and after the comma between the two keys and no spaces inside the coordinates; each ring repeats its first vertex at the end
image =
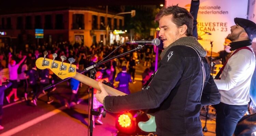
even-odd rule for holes
{"type": "MultiPolygon", "coordinates": [[[[134,52],[134,51],[141,50],[142,47],[144,47],[144,46],[145,46],[145,45],[140,45],[140,44],[139,44],[138,47],[136,47],[136,48],[134,48],[134,49],[132,49],[132,50],[130,50],[130,51],[127,51],[127,52],[125,52],[125,53],[122,53],[122,54],[119,54],[119,55],[114,56],[114,57],[112,57],[112,58],[109,58],[108,60],[101,61],[101,62],[98,62],[98,63],[96,63],[96,64],[94,64],[94,65],[91,65],[91,66],[85,68],[84,70],[80,71],[79,73],[88,72],[88,71],[90,70],[90,73],[91,73],[90,78],[93,78],[93,79],[94,79],[94,78],[95,78],[95,74],[96,74],[95,68],[99,67],[100,65],[102,65],[102,64],[104,64],[104,63],[106,63],[106,62],[109,62],[109,61],[113,60],[114,58],[117,58],[117,57],[120,57],[120,56],[124,56],[124,55],[129,54],[129,53],[134,52]]],[[[59,84],[59,83],[61,83],[61,82],[64,82],[64,81],[66,81],[66,80],[68,80],[68,79],[70,79],[70,78],[66,78],[66,79],[63,79],[63,80],[58,81],[58,82],[56,82],[56,83],[50,84],[50,85],[44,87],[43,89],[44,89],[44,90],[45,90],[45,89],[49,89],[49,88],[51,88],[52,86],[57,85],[57,84],[59,84]]],[[[88,120],[89,120],[89,127],[88,127],[89,130],[88,130],[88,133],[90,132],[90,134],[89,134],[90,136],[93,136],[93,119],[92,119],[93,115],[94,115],[94,116],[99,116],[100,114],[103,114],[103,117],[104,117],[104,112],[103,112],[103,113],[96,112],[96,111],[94,111],[94,109],[93,109],[93,106],[92,106],[92,105],[93,105],[93,95],[94,95],[93,92],[94,92],[94,91],[93,91],[93,88],[92,88],[92,91],[91,91],[91,105],[89,104],[90,110],[89,110],[89,118],[88,118],[88,120]]]]}

